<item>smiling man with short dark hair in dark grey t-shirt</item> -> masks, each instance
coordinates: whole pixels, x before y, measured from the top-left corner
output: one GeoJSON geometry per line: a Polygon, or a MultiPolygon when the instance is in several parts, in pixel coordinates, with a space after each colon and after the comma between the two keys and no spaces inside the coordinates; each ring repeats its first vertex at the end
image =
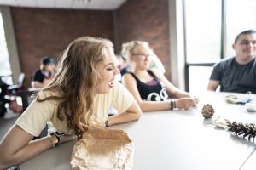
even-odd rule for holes
{"type": "Polygon", "coordinates": [[[256,94],[256,31],[242,31],[236,36],[232,48],[236,56],[214,66],[208,90],[256,94]]]}

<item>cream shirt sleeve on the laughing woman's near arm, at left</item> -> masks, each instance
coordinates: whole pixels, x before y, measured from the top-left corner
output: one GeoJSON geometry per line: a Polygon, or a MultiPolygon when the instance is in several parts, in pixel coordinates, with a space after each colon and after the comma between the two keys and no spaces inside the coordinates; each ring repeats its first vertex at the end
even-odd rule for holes
{"type": "Polygon", "coordinates": [[[38,102],[37,99],[34,99],[15,124],[26,133],[39,136],[46,126],[46,122],[51,120],[54,110],[54,102],[52,100],[38,102]]]}

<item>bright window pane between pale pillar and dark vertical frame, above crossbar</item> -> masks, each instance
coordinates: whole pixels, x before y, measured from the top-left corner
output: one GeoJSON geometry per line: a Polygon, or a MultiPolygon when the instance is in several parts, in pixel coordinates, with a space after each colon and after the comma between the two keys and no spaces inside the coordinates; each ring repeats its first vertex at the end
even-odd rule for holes
{"type": "Polygon", "coordinates": [[[220,54],[221,1],[185,1],[187,62],[214,62],[220,54]]]}

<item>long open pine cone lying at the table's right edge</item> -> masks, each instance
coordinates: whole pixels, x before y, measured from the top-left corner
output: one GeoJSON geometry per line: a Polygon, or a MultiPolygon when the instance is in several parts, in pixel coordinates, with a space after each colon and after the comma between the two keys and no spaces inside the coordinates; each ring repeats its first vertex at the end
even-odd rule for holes
{"type": "Polygon", "coordinates": [[[242,137],[242,138],[246,138],[248,140],[255,138],[256,135],[256,127],[255,124],[253,123],[246,123],[246,124],[242,124],[241,122],[237,123],[237,122],[230,122],[230,121],[226,121],[227,126],[229,127],[228,130],[230,132],[235,133],[237,136],[242,137]]]}

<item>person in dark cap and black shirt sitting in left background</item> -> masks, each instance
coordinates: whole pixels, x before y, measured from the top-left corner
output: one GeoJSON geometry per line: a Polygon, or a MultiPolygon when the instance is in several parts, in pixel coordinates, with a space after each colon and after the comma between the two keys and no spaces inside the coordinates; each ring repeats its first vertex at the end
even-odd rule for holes
{"type": "Polygon", "coordinates": [[[44,88],[55,74],[55,59],[45,56],[41,59],[40,69],[33,72],[32,88],[44,88]]]}

